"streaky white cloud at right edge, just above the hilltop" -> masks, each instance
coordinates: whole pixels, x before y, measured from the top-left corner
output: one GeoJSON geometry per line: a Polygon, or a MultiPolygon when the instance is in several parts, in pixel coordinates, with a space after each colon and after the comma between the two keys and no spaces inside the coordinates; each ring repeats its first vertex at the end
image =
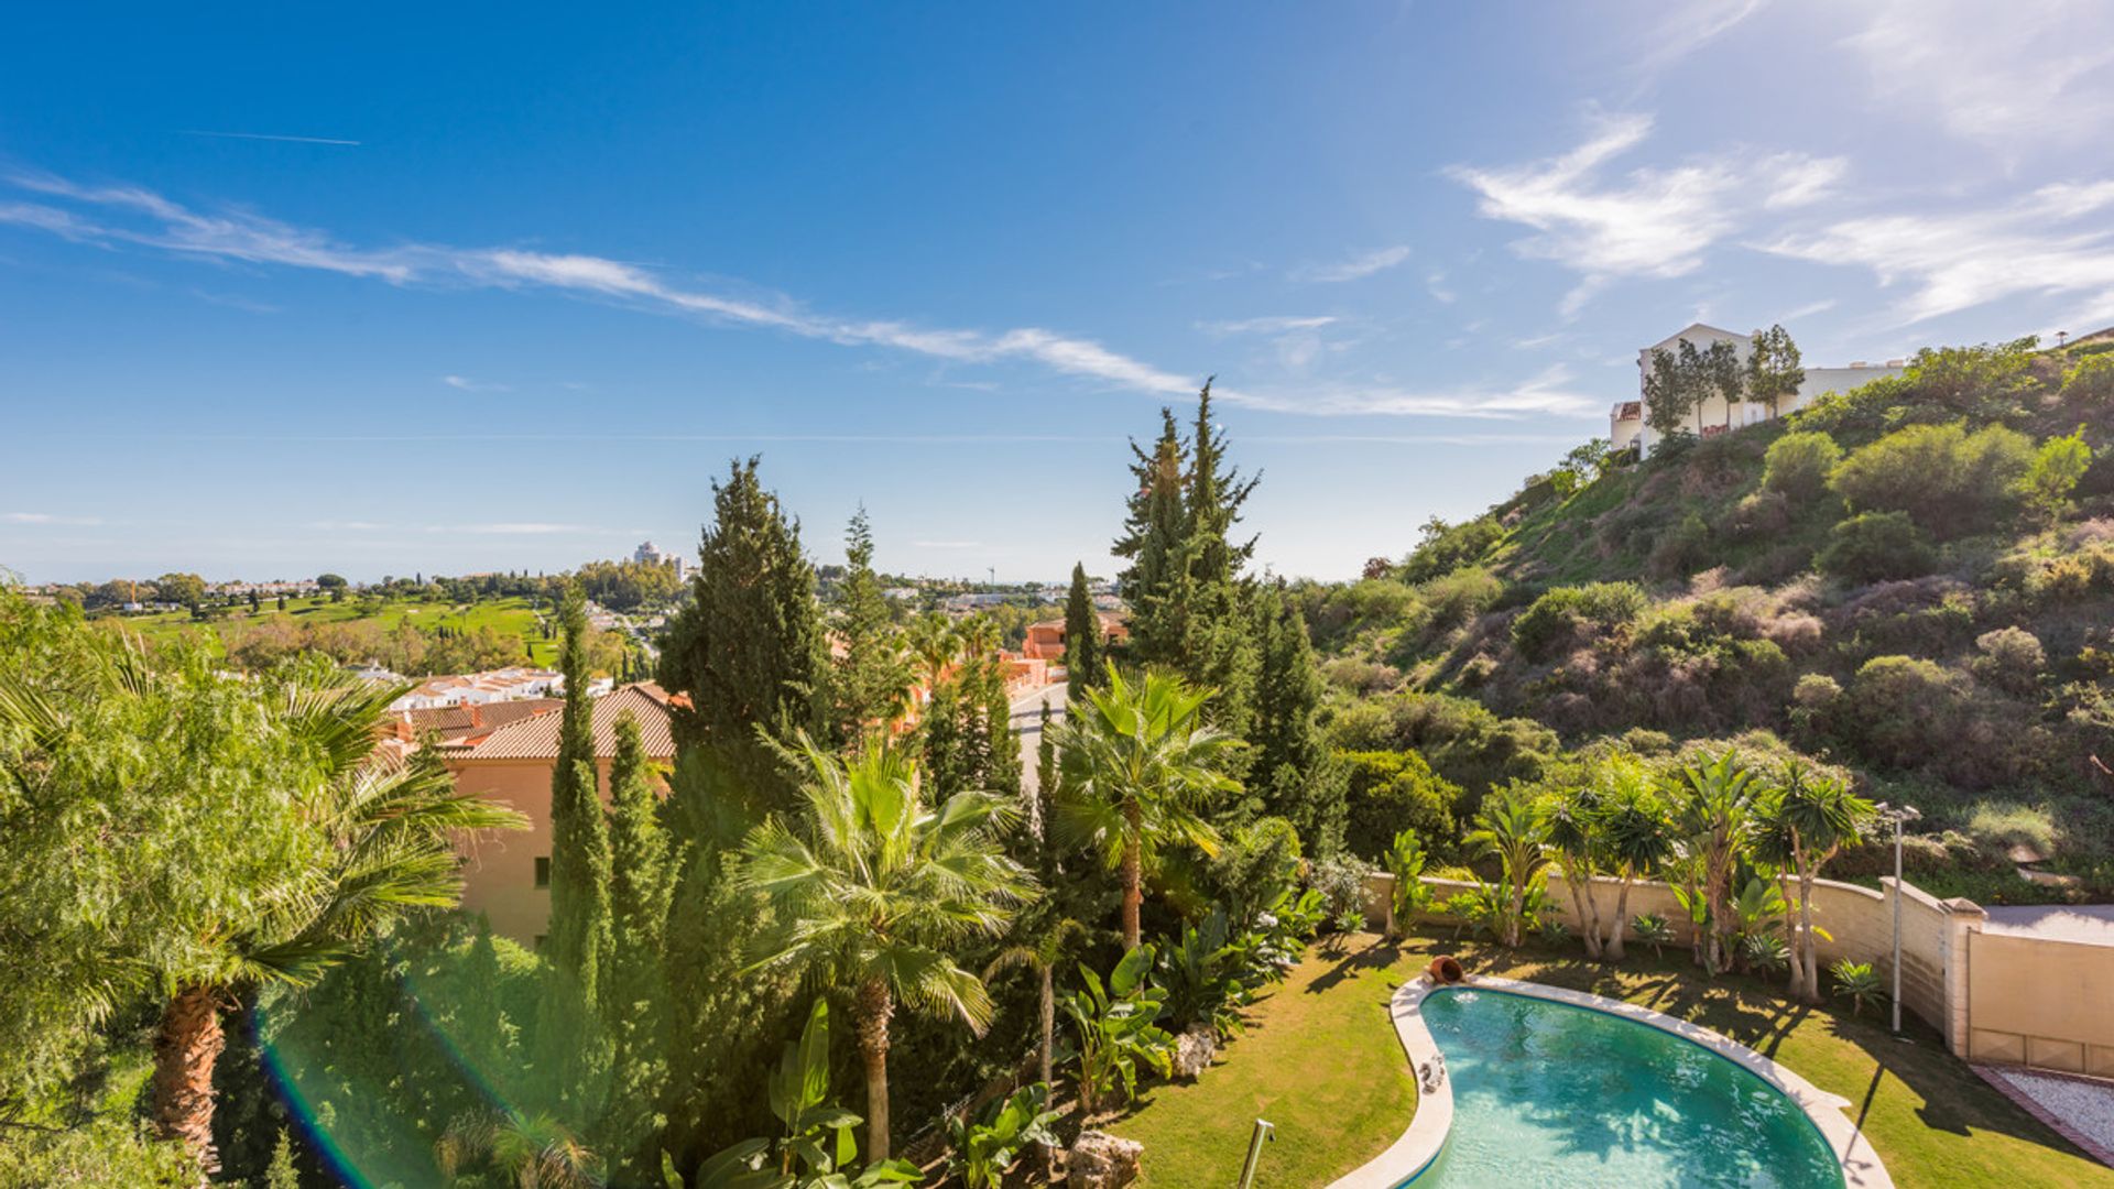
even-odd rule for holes
{"type": "Polygon", "coordinates": [[[2076,226],[2110,207],[2114,182],[2055,184],[1994,209],[1850,218],[1763,248],[1907,286],[1896,305],[1905,324],[2017,294],[2067,296],[2078,317],[2114,317],[2114,228],[2076,226]]]}

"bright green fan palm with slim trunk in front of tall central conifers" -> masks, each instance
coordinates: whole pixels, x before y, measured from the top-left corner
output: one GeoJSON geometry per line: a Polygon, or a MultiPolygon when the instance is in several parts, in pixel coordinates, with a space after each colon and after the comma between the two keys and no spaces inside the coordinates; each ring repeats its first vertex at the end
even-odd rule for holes
{"type": "Polygon", "coordinates": [[[1123,948],[1137,948],[1144,870],[1161,846],[1188,842],[1218,853],[1218,831],[1199,817],[1211,793],[1239,785],[1220,768],[1239,743],[1203,724],[1209,690],[1171,673],[1125,681],[1114,664],[1061,730],[1063,817],[1123,878],[1123,948]]]}

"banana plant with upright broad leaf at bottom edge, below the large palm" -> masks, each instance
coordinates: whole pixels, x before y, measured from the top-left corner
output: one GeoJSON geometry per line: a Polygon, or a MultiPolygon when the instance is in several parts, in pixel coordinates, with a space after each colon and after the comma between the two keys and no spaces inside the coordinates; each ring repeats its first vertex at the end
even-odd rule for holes
{"type": "MultiPolygon", "coordinates": [[[[698,1170],[698,1189],[873,1189],[917,1183],[917,1166],[903,1159],[869,1164],[856,1176],[852,1136],[863,1119],[829,1102],[829,1001],[816,999],[799,1041],[786,1041],[778,1068],[765,1079],[772,1115],[784,1123],[776,1138],[742,1140],[715,1153],[698,1170]]],[[[681,1189],[672,1168],[664,1176],[681,1189]]]]}

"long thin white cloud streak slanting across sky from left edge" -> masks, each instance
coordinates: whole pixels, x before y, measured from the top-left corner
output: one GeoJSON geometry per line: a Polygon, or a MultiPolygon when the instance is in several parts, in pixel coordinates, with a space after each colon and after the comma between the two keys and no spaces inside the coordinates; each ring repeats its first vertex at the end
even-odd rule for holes
{"type": "MultiPolygon", "coordinates": [[[[685,286],[641,264],[605,256],[435,243],[361,248],[249,212],[197,212],[140,186],[82,186],[49,173],[15,176],[11,182],[44,201],[0,203],[0,224],[104,248],[137,245],[201,260],[311,269],[395,286],[548,290],[715,326],[748,326],[843,347],[909,351],[949,364],[1034,364],[1061,377],[1169,400],[1194,396],[1203,377],[1203,368],[1197,368],[1197,374],[1173,372],[1091,339],[1040,326],[956,330],[841,317],[814,313],[789,298],[736,296],[685,286]]],[[[1353,264],[1370,273],[1406,256],[1406,248],[1383,250],[1353,264]]],[[[1359,406],[1357,394],[1370,389],[1355,385],[1319,391],[1311,385],[1275,391],[1222,385],[1213,391],[1228,404],[1279,413],[1406,413],[1423,404],[1383,394],[1372,406],[1359,406]]],[[[1499,404],[1463,415],[1512,417],[1518,410],[1499,404]]]]}

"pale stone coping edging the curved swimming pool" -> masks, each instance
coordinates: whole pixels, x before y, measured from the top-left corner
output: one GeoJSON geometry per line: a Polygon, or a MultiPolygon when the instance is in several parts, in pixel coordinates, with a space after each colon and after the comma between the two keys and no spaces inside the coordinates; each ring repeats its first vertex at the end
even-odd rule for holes
{"type": "MultiPolygon", "coordinates": [[[[1835,1159],[1841,1164],[1846,1189],[1894,1189],[1894,1178],[1886,1172],[1886,1164],[1879,1161],[1879,1153],[1873,1151],[1871,1142],[1862,1136],[1862,1132],[1858,1132],[1858,1126],[1843,1113],[1852,1106],[1848,1098],[1820,1090],[1812,1081],[1805,1081],[1782,1064],[1757,1054],[1731,1037],[1725,1037],[1723,1032],[1712,1032],[1702,1024],[1691,1024],[1636,1003],[1624,1003],[1619,999],[1607,999],[1605,994],[1590,994],[1539,982],[1467,975],[1459,984],[1450,986],[1499,990],[1507,994],[1524,994],[1528,999],[1569,1003],[1571,1007],[1586,1007],[1609,1016],[1621,1016],[1624,1020],[1632,1020],[1636,1024],[1649,1024],[1662,1032],[1672,1032],[1685,1041],[1702,1045],[1746,1068],[1797,1102],[1799,1109],[1805,1111],[1805,1117],[1812,1119],[1814,1130],[1820,1132],[1820,1138],[1829,1142],[1835,1159]]],[[[1438,1041],[1431,1039],[1431,1030],[1425,1026],[1423,1018],[1425,996],[1433,990],[1442,990],[1442,984],[1433,984],[1431,975],[1416,975],[1414,980],[1402,984],[1387,1005],[1387,1011],[1395,1022],[1395,1039],[1402,1041],[1402,1051],[1410,1060],[1410,1073],[1416,1077],[1416,1115],[1410,1119],[1410,1128],[1402,1132],[1402,1138],[1389,1145],[1387,1151],[1336,1178],[1330,1189],[1393,1189],[1410,1176],[1421,1174],[1433,1159],[1438,1159],[1440,1149],[1446,1147],[1446,1132],[1452,1130],[1454,1115],[1452,1077],[1442,1073],[1438,1085],[1427,1090],[1427,1071],[1444,1071],[1444,1058],[1440,1056],[1438,1041]]]]}

